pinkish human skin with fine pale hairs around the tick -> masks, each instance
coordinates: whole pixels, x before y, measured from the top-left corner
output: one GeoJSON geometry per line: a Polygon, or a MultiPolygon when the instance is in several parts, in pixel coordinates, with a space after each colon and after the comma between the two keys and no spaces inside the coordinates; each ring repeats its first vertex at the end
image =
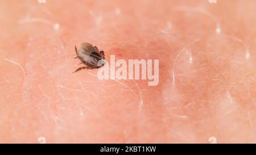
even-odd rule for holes
{"type": "Polygon", "coordinates": [[[0,1],[0,143],[255,143],[255,6],[0,1]],[[84,42],[159,60],[158,85],[72,73],[84,42]]]}

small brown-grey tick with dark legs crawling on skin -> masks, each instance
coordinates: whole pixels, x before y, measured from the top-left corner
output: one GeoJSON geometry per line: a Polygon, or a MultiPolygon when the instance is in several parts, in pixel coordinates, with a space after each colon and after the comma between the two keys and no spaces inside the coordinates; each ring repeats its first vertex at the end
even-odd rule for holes
{"type": "Polygon", "coordinates": [[[81,62],[79,64],[84,64],[86,66],[82,66],[76,69],[74,72],[78,72],[82,69],[95,69],[104,66],[105,62],[105,54],[104,51],[99,51],[96,46],[93,46],[90,43],[82,43],[79,50],[75,47],[76,57],[81,62]]]}

